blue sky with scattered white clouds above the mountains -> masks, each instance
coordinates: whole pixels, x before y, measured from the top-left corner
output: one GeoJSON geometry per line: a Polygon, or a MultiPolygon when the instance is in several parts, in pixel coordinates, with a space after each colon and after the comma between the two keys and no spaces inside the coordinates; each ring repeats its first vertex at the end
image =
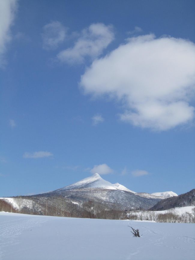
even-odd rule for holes
{"type": "Polygon", "coordinates": [[[0,196],[98,172],[194,188],[194,1],[0,1],[0,196]]]}

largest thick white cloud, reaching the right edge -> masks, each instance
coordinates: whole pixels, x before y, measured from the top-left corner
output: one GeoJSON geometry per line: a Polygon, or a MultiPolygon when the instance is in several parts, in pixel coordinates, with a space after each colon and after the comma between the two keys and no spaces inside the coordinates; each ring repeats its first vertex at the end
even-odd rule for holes
{"type": "Polygon", "coordinates": [[[121,120],[167,130],[193,119],[195,44],[172,37],[129,38],[82,75],[86,94],[122,101],[121,120]]]}

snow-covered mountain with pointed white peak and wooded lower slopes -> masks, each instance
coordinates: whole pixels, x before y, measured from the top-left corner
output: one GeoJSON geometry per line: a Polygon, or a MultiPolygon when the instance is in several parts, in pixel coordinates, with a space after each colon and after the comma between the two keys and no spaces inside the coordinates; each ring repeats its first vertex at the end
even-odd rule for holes
{"type": "Polygon", "coordinates": [[[81,211],[87,201],[93,201],[95,205],[104,207],[106,210],[113,210],[116,207],[120,210],[149,209],[161,201],[164,196],[173,196],[173,194],[175,195],[174,192],[137,193],[119,183],[112,184],[96,173],[52,192],[0,198],[0,201],[3,200],[19,211],[23,209],[29,213],[44,214],[47,210],[46,207],[53,212],[54,208],[61,208],[61,205],[66,205],[64,210],[69,210],[72,208],[72,204],[77,205],[77,210],[81,211]]]}

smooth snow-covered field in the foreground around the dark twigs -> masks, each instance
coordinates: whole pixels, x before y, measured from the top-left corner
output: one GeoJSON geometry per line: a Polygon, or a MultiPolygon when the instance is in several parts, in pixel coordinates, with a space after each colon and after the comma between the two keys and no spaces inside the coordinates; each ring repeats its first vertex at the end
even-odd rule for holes
{"type": "Polygon", "coordinates": [[[195,224],[0,212],[2,260],[194,259],[195,224]],[[133,237],[128,225],[139,228],[133,237]]]}

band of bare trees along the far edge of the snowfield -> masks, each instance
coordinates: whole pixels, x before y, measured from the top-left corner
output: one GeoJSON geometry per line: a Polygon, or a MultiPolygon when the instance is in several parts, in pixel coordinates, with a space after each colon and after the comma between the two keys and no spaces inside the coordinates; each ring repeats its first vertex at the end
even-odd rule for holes
{"type": "Polygon", "coordinates": [[[192,213],[177,213],[176,210],[167,210],[166,213],[157,213],[151,210],[121,210],[120,204],[114,202],[111,206],[95,203],[92,200],[83,203],[73,202],[68,198],[58,196],[57,198],[44,198],[42,202],[36,198],[29,199],[31,207],[23,204],[26,197],[16,197],[18,208],[14,209],[9,203],[0,200],[0,211],[24,213],[45,216],[76,217],[91,219],[129,219],[129,220],[150,220],[155,222],[168,223],[195,223],[195,207],[192,213]]]}

